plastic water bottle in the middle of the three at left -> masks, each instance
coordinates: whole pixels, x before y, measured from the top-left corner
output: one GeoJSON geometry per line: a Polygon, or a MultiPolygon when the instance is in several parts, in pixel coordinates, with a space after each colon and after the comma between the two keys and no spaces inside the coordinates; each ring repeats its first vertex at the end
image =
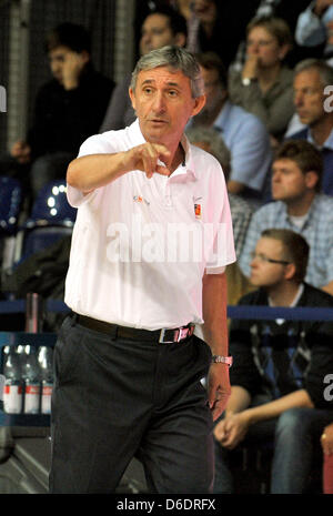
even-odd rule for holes
{"type": "Polygon", "coordinates": [[[40,370],[33,346],[24,346],[22,354],[22,378],[24,382],[24,414],[40,411],[40,370]]]}

